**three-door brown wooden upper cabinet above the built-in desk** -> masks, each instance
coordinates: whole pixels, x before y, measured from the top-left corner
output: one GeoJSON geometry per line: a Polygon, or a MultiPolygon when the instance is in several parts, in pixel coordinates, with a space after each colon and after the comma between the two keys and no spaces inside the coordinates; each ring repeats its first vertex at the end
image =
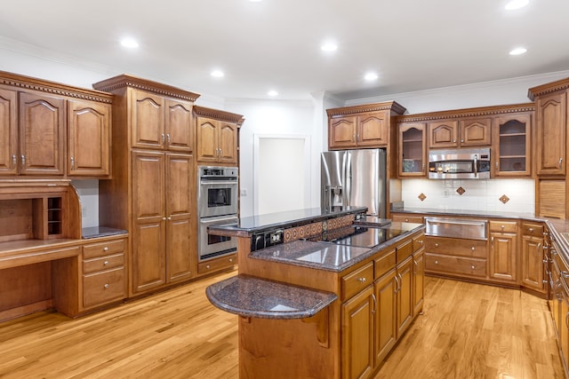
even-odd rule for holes
{"type": "Polygon", "coordinates": [[[0,72],[0,176],[108,178],[111,102],[107,93],[0,72]]]}

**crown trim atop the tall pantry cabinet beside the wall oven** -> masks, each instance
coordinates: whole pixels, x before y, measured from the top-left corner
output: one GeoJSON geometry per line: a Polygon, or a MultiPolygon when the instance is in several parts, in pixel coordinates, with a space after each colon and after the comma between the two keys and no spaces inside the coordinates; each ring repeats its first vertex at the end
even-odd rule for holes
{"type": "Polygon", "coordinates": [[[170,98],[183,99],[187,101],[196,101],[199,94],[184,91],[180,88],[173,87],[172,85],[153,82],[147,79],[131,75],[117,75],[98,83],[93,83],[92,87],[96,90],[113,92],[124,87],[131,87],[137,90],[154,92],[158,95],[167,96],[170,98]]]}

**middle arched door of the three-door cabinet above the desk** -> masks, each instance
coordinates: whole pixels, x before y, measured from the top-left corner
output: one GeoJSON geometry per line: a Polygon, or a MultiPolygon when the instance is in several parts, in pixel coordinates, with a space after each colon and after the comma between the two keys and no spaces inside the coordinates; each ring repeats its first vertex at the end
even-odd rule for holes
{"type": "Polygon", "coordinates": [[[65,100],[20,93],[20,174],[63,175],[65,100]]]}

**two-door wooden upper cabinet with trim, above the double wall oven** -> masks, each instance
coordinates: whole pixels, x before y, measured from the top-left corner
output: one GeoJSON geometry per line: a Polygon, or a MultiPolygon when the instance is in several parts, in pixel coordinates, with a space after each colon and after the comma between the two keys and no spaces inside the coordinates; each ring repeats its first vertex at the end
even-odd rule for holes
{"type": "Polygon", "coordinates": [[[235,166],[239,154],[241,114],[194,107],[196,116],[196,161],[235,166]]]}

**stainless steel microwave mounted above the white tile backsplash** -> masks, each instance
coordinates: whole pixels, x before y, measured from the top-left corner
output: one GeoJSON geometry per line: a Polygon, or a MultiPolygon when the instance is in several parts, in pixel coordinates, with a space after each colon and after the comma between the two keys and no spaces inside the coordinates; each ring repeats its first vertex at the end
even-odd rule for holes
{"type": "Polygon", "coordinates": [[[429,179],[489,179],[490,148],[431,150],[429,179]]]}

